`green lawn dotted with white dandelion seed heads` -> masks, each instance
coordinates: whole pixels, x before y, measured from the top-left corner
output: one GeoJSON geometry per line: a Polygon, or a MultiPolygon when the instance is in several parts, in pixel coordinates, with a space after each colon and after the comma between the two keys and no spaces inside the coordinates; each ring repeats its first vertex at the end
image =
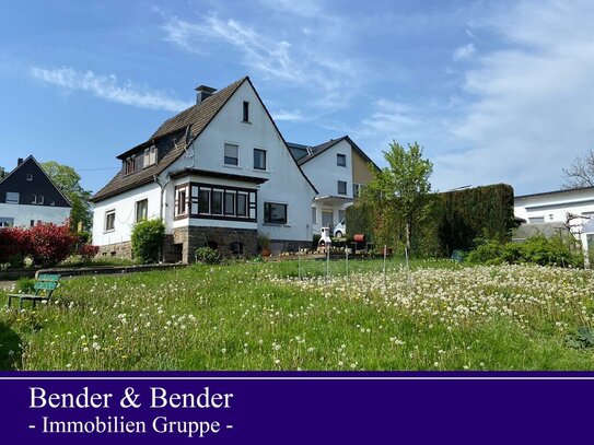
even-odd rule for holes
{"type": "Polygon", "coordinates": [[[385,269],[295,260],[62,280],[48,305],[1,309],[0,367],[594,368],[592,271],[385,269]]]}

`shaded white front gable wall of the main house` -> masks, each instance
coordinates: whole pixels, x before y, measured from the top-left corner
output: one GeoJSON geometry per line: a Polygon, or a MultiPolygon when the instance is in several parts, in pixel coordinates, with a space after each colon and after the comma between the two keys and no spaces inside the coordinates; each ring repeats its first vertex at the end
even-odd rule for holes
{"type": "Polygon", "coordinates": [[[300,172],[281,136],[252,86],[245,82],[194,143],[194,167],[267,178],[258,187],[258,231],[272,242],[310,241],[314,189],[300,172]],[[243,102],[249,102],[249,122],[243,122],[243,102]],[[224,165],[224,143],[240,147],[240,165],[224,165]],[[253,150],[266,150],[267,169],[254,168],[253,150]],[[288,223],[264,223],[264,203],[288,206],[288,223]]]}

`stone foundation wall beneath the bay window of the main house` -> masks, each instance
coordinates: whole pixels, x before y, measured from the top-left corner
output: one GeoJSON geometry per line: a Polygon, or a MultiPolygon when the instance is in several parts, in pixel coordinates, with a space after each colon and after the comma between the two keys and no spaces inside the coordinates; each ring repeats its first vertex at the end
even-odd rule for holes
{"type": "MultiPolygon", "coordinates": [[[[257,255],[258,231],[247,229],[187,226],[173,230],[171,249],[182,251],[182,262],[194,262],[194,250],[206,245],[217,248],[222,256],[257,255]],[[235,244],[235,251],[232,250],[235,244]],[[237,251],[242,245],[242,251],[237,251]]],[[[165,251],[170,249],[165,247],[165,251]]]]}

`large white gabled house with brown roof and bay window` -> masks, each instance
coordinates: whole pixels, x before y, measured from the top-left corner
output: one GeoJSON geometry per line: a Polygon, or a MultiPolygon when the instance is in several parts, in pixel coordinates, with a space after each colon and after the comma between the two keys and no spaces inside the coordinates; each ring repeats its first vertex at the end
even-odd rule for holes
{"type": "Polygon", "coordinates": [[[197,103],[121,153],[121,171],[94,197],[100,255],[131,256],[142,219],[165,223],[163,258],[189,262],[197,247],[255,255],[258,234],[273,250],[311,245],[315,187],[291,155],[249,78],[200,85],[197,103]]]}

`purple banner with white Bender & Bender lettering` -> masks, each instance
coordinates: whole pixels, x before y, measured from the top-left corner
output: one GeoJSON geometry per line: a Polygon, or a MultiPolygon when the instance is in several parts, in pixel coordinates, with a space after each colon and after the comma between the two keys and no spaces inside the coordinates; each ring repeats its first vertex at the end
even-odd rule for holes
{"type": "Polygon", "coordinates": [[[593,374],[0,376],[2,442],[570,443],[593,374]]]}

